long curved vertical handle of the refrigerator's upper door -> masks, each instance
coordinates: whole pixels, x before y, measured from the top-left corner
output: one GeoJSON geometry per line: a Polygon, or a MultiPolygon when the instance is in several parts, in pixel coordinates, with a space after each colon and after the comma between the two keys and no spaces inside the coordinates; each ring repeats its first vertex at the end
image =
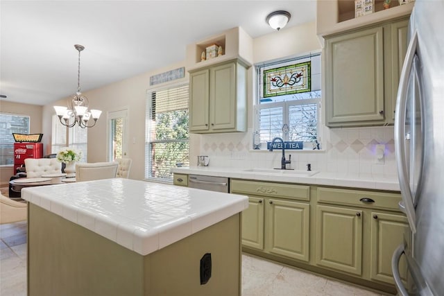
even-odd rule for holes
{"type": "Polygon", "coordinates": [[[416,213],[415,206],[413,204],[413,194],[411,193],[409,186],[407,166],[405,164],[404,137],[409,73],[411,73],[411,69],[413,68],[413,58],[415,58],[417,46],[418,33],[415,31],[411,37],[409,47],[407,48],[404,65],[402,66],[395,111],[395,156],[396,164],[398,166],[398,178],[400,181],[400,189],[402,193],[402,200],[404,201],[407,220],[409,221],[410,229],[413,234],[416,233],[416,213]]]}

